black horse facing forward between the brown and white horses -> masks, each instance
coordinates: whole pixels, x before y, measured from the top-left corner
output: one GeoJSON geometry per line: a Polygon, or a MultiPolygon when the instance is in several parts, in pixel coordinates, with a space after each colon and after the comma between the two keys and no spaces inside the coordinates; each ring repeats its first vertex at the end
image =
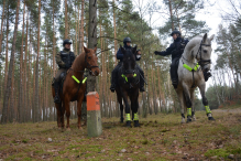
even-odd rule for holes
{"type": "Polygon", "coordinates": [[[140,88],[140,74],[136,69],[135,64],[135,52],[136,46],[132,50],[124,50],[122,46],[121,52],[123,53],[123,64],[118,71],[118,85],[116,87],[118,101],[120,104],[121,110],[121,122],[123,122],[123,105],[122,98],[125,105],[125,117],[127,117],[127,127],[131,127],[131,117],[130,117],[130,105],[128,98],[131,100],[131,110],[132,110],[132,120],[134,120],[134,127],[139,127],[139,117],[138,117],[138,97],[140,88]]]}

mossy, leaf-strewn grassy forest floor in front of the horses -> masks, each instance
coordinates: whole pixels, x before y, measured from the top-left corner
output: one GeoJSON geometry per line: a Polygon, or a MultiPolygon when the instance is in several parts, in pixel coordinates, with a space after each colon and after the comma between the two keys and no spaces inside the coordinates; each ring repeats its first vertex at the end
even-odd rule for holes
{"type": "Polygon", "coordinates": [[[119,124],[119,117],[102,118],[103,131],[97,138],[88,138],[86,127],[78,130],[77,119],[70,120],[72,130],[64,132],[57,129],[56,121],[0,125],[0,151],[10,154],[3,154],[1,159],[41,160],[45,155],[46,160],[57,161],[165,161],[182,160],[184,153],[197,160],[204,160],[202,154],[224,159],[229,154],[240,154],[241,111],[213,110],[212,114],[216,121],[209,121],[205,111],[197,111],[197,121],[190,124],[180,124],[179,114],[140,117],[140,128],[125,128],[124,124],[119,124]],[[54,141],[50,142],[47,138],[54,141]]]}

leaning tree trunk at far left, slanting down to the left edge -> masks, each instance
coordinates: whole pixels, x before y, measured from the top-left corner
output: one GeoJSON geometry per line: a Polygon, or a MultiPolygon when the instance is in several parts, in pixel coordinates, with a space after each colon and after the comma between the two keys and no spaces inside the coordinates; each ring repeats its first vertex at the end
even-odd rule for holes
{"type": "Polygon", "coordinates": [[[9,74],[8,74],[8,83],[6,88],[6,95],[3,99],[3,109],[2,109],[2,124],[7,124],[7,116],[8,116],[8,105],[9,105],[9,96],[11,90],[11,79],[12,79],[12,71],[13,63],[14,63],[14,53],[15,53],[15,42],[17,42],[17,32],[18,32],[18,22],[19,22],[19,8],[20,8],[20,0],[18,0],[17,11],[15,11],[15,24],[14,24],[14,33],[13,33],[13,41],[12,41],[12,50],[11,50],[11,58],[10,58],[10,66],[9,66],[9,74]]]}

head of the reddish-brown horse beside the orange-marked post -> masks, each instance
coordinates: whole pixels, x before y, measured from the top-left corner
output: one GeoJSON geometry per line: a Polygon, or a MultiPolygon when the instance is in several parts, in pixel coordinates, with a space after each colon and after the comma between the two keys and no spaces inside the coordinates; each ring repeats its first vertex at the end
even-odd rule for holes
{"type": "Polygon", "coordinates": [[[99,75],[99,66],[98,66],[98,57],[96,54],[97,51],[97,46],[92,50],[92,49],[87,49],[84,46],[85,50],[85,66],[86,68],[89,69],[89,73],[92,76],[98,76],[99,75]]]}

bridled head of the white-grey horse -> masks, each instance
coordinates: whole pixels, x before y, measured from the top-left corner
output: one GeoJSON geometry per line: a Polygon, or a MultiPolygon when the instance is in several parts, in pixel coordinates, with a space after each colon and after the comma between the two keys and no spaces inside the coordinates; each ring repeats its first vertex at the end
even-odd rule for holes
{"type": "Polygon", "coordinates": [[[201,66],[202,71],[208,72],[211,67],[211,41],[213,40],[215,34],[208,37],[207,33],[201,39],[200,46],[196,58],[198,64],[201,66]]]}

